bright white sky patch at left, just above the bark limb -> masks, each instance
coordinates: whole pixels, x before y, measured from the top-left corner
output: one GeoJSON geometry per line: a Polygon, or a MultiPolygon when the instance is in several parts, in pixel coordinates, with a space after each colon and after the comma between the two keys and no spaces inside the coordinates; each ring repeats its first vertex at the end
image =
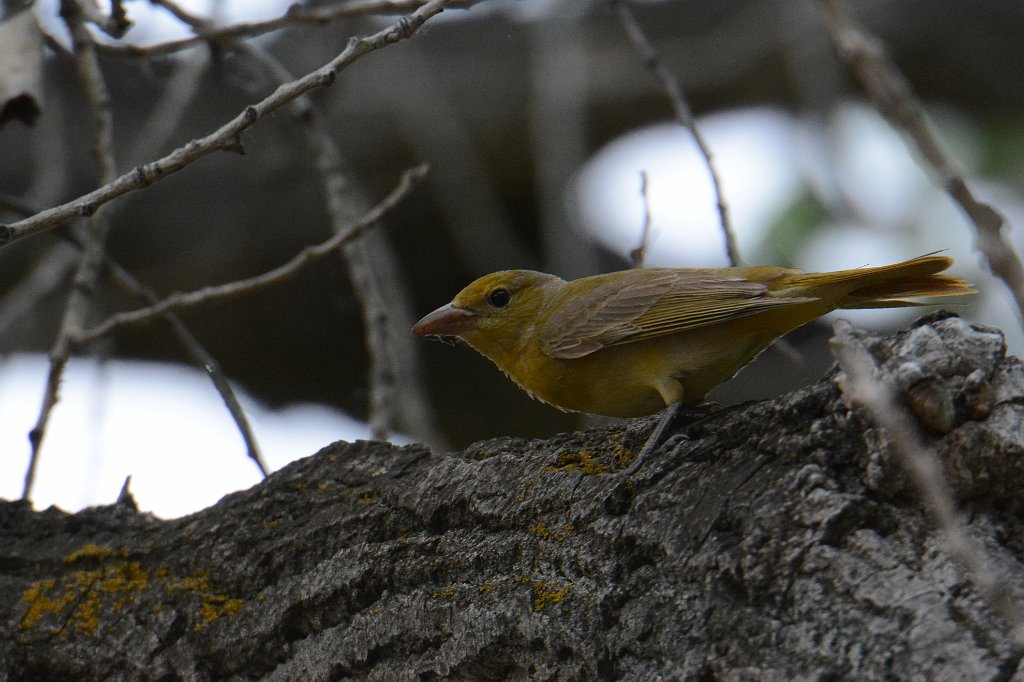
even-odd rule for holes
{"type": "MultiPolygon", "coordinates": [[[[0,497],[22,494],[47,369],[41,354],[0,361],[0,497]]],[[[37,508],[110,504],[131,475],[139,507],[172,517],[260,480],[220,395],[195,368],[73,359],[60,398],[36,472],[37,508]]],[[[335,440],[370,437],[365,423],[324,406],[272,412],[241,399],[271,470],[335,440]]]]}

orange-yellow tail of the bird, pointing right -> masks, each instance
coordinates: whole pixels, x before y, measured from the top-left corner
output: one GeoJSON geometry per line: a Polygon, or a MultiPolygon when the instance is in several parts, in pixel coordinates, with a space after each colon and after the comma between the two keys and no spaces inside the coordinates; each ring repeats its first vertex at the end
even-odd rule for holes
{"type": "Polygon", "coordinates": [[[970,282],[939,274],[953,264],[948,256],[927,254],[901,263],[835,272],[808,272],[786,282],[788,287],[839,295],[837,308],[899,308],[927,305],[908,298],[976,294],[970,282]]]}

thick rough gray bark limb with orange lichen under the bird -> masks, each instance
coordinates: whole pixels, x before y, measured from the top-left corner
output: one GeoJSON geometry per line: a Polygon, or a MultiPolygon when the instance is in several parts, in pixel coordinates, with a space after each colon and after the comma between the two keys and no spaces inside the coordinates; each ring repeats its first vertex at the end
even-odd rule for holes
{"type": "MultiPolygon", "coordinates": [[[[863,342],[904,398],[927,383],[907,403],[1020,598],[1024,367],[942,313],[863,342]]],[[[836,378],[677,426],[629,476],[650,419],[337,442],[175,520],[2,503],[0,680],[1024,679],[836,378]]]]}

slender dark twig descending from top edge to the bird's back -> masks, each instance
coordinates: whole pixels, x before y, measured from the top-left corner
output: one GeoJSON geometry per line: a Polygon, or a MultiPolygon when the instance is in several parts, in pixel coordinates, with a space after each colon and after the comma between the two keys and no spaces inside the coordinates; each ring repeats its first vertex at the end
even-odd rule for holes
{"type": "Polygon", "coordinates": [[[686,96],[683,94],[683,89],[679,86],[679,81],[673,76],[672,72],[662,60],[660,55],[654,46],[647,40],[647,36],[644,35],[643,29],[640,28],[640,24],[637,22],[636,17],[633,15],[633,11],[627,6],[624,0],[610,0],[611,5],[618,12],[618,17],[622,19],[623,27],[626,29],[626,34],[630,38],[630,42],[633,46],[640,52],[643,57],[644,63],[647,68],[651,70],[655,78],[662,84],[662,89],[665,90],[665,94],[668,95],[669,101],[672,102],[672,111],[676,116],[676,121],[679,125],[683,126],[690,131],[693,135],[693,141],[696,142],[697,148],[700,150],[700,154],[705,158],[705,164],[708,166],[708,174],[711,176],[712,184],[715,187],[715,200],[718,204],[718,215],[722,224],[722,238],[725,241],[725,252],[729,257],[729,263],[732,265],[739,265],[742,259],[739,257],[739,247],[736,246],[736,237],[732,230],[732,222],[729,219],[729,207],[725,203],[725,196],[722,194],[722,181],[719,178],[718,170],[715,168],[715,162],[712,158],[711,147],[708,146],[708,142],[705,140],[703,135],[700,134],[700,129],[697,128],[696,121],[693,118],[693,112],[690,110],[689,103],[686,101],[686,96]]]}

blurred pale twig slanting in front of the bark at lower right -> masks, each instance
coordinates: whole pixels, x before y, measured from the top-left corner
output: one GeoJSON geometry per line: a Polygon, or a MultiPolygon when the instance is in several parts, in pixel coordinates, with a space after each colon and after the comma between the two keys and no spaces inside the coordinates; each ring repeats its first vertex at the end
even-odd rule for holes
{"type": "Polygon", "coordinates": [[[982,599],[1010,625],[1014,645],[1024,648],[1024,613],[1008,582],[997,574],[965,527],[949,484],[935,455],[924,444],[916,421],[897,401],[891,382],[878,376],[879,368],[854,334],[853,325],[837,321],[833,346],[843,372],[844,393],[866,409],[872,421],[885,430],[925,507],[942,529],[949,554],[967,569],[982,599]]]}

